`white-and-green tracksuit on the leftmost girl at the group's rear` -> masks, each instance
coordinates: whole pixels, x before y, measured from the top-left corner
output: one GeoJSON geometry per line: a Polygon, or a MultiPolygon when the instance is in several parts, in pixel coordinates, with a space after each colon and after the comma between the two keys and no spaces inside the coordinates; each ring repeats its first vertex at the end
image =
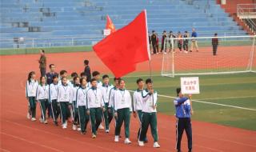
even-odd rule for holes
{"type": "Polygon", "coordinates": [[[32,118],[36,117],[36,94],[37,94],[38,82],[34,79],[31,79],[30,82],[26,81],[26,98],[29,102],[29,114],[32,118]]]}

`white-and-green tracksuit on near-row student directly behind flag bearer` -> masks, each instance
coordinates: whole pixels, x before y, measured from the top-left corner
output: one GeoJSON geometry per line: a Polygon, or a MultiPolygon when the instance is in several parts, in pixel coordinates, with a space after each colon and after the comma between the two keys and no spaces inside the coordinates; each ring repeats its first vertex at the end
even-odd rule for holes
{"type": "Polygon", "coordinates": [[[125,124],[126,138],[130,137],[130,112],[132,112],[132,101],[128,90],[118,89],[114,93],[114,111],[118,113],[115,135],[119,136],[122,122],[125,124]]]}

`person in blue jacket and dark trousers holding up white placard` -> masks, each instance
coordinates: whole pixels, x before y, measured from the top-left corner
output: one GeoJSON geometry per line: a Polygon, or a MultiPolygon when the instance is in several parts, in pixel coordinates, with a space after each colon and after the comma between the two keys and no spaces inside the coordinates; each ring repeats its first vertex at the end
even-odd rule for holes
{"type": "Polygon", "coordinates": [[[177,98],[174,98],[174,106],[176,109],[176,150],[181,151],[181,142],[183,131],[186,131],[189,152],[192,151],[192,127],[191,127],[191,101],[184,97],[181,88],[177,88],[177,98]]]}

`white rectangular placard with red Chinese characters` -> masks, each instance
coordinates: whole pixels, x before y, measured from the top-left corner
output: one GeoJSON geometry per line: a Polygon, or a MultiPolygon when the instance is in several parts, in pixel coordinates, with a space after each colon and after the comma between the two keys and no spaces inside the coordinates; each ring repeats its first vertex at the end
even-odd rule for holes
{"type": "Polygon", "coordinates": [[[182,94],[200,94],[198,77],[181,78],[182,94]]]}

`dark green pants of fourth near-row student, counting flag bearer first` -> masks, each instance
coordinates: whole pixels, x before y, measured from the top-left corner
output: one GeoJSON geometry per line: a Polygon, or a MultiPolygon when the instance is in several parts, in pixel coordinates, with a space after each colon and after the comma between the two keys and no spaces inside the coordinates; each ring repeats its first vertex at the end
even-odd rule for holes
{"type": "Polygon", "coordinates": [[[86,106],[78,106],[78,117],[82,133],[86,132],[87,124],[90,121],[90,115],[86,112],[86,106]]]}

